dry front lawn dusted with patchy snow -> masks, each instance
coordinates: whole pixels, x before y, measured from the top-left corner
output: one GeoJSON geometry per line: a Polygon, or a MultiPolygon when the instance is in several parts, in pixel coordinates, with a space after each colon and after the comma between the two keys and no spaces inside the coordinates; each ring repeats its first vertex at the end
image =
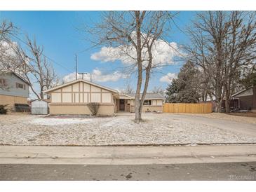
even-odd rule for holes
{"type": "MultiPolygon", "coordinates": [[[[44,118],[0,116],[0,144],[11,145],[119,145],[256,143],[256,137],[224,130],[207,122],[170,114],[143,114],[105,118],[44,118]]],[[[210,119],[210,118],[209,118],[210,119]]]]}

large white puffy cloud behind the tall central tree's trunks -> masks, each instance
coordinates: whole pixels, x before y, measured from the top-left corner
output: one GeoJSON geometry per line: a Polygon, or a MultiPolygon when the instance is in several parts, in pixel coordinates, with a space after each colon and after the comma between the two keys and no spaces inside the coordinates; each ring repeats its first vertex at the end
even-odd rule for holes
{"type": "MultiPolygon", "coordinates": [[[[146,50],[146,48],[143,48],[142,50],[144,59],[148,58],[146,50]]],[[[162,40],[157,40],[152,48],[153,65],[161,66],[163,64],[174,64],[174,58],[180,57],[180,53],[178,52],[181,53],[177,43],[167,43],[162,40]]],[[[136,50],[133,46],[102,47],[99,52],[93,53],[93,55],[90,56],[92,60],[102,62],[114,62],[120,60],[123,64],[134,64],[135,57],[136,50]]]]}

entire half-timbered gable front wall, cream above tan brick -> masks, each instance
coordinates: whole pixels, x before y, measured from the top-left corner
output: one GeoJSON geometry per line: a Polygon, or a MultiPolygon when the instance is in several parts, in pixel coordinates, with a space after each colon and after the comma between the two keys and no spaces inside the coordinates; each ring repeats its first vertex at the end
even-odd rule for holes
{"type": "Polygon", "coordinates": [[[114,115],[113,93],[84,82],[74,83],[50,92],[50,114],[90,115],[87,104],[100,103],[97,115],[114,115]]]}

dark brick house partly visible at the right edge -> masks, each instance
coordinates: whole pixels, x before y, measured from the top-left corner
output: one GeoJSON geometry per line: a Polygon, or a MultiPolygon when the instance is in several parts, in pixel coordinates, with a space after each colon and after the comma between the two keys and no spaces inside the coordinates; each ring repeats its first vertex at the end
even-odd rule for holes
{"type": "Polygon", "coordinates": [[[232,100],[234,104],[240,110],[251,110],[256,112],[256,85],[254,87],[250,87],[236,94],[232,95],[232,100]]]}

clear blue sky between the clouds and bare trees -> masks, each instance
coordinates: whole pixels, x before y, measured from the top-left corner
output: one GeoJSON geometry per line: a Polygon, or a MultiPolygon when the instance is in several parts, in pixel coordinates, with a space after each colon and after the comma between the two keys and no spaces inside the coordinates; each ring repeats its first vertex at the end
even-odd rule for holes
{"type": "MultiPolygon", "coordinates": [[[[194,18],[194,11],[181,11],[175,22],[178,27],[184,29],[194,18]]],[[[100,48],[87,50],[91,45],[83,37],[83,33],[77,28],[81,28],[86,22],[90,25],[90,20],[100,20],[100,11],[1,11],[1,20],[10,20],[20,29],[22,34],[20,38],[24,39],[24,34],[31,38],[35,37],[39,45],[44,46],[44,53],[63,67],[53,63],[60,76],[65,76],[75,71],[74,55],[78,55],[79,71],[92,72],[98,69],[102,74],[111,74],[120,69],[121,62],[101,62],[90,59],[93,53],[100,48]],[[83,52],[83,50],[86,50],[83,52]]],[[[175,42],[178,45],[188,43],[187,36],[175,25],[170,34],[169,42],[175,42]]],[[[13,39],[13,41],[18,41],[13,39]]],[[[182,66],[180,64],[163,67],[158,73],[155,73],[149,85],[149,89],[154,86],[166,88],[167,82],[159,81],[160,78],[168,73],[177,73],[182,66]]],[[[135,85],[135,79],[119,78],[118,81],[100,82],[111,88],[124,88],[126,84],[135,85]]]]}

